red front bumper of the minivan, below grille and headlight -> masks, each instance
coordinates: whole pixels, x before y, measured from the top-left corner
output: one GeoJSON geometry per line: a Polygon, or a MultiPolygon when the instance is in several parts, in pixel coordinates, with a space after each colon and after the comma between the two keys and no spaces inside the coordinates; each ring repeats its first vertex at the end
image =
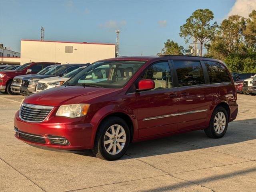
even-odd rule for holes
{"type": "Polygon", "coordinates": [[[62,123],[25,122],[19,118],[19,114],[16,112],[14,128],[16,129],[14,135],[16,138],[36,146],[60,150],[82,150],[90,149],[94,145],[94,129],[90,123],[71,121],[62,123]],[[19,132],[25,134],[26,137],[20,135],[19,132]],[[53,144],[52,139],[54,138],[56,140],[65,138],[68,140],[68,144],[53,144]]]}

